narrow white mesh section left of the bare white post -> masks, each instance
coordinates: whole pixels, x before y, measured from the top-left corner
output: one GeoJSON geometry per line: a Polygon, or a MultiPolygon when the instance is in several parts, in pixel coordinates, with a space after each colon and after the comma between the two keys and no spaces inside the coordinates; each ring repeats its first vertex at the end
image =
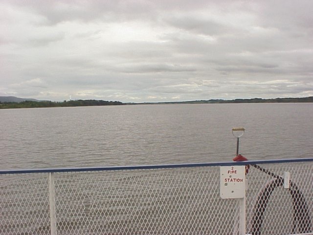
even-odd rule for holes
{"type": "Polygon", "coordinates": [[[0,175],[0,234],[49,234],[47,174],[0,175]]]}

